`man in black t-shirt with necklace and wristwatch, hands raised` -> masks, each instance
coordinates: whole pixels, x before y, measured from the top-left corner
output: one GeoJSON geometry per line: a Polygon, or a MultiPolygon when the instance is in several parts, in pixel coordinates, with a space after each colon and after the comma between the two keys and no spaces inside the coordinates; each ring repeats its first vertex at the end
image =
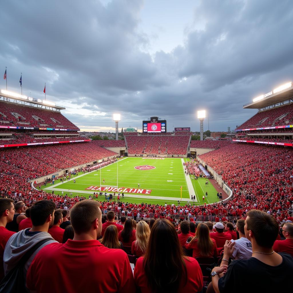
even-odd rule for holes
{"type": "MultiPolygon", "coordinates": [[[[247,292],[247,280],[252,284],[253,292],[292,292],[287,273],[292,272],[293,259],[287,253],[276,253],[273,244],[277,238],[277,221],[259,210],[251,210],[245,220],[245,235],[251,241],[253,257],[248,260],[234,260],[227,266],[227,260],[233,254],[234,243],[226,241],[224,257],[220,267],[212,270],[212,287],[215,292],[247,292]],[[225,273],[226,272],[226,273],[225,273]],[[219,274],[225,273],[219,278],[219,274]]],[[[212,292],[210,285],[207,292],[212,292]]]]}

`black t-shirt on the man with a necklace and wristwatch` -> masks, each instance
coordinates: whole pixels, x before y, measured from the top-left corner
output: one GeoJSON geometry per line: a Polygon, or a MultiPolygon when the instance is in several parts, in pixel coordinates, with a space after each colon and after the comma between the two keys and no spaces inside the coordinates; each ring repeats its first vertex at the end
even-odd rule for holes
{"type": "Polygon", "coordinates": [[[224,277],[218,281],[219,291],[225,292],[290,292],[292,283],[289,274],[293,271],[293,257],[279,253],[283,262],[275,267],[256,258],[233,260],[224,277]]]}

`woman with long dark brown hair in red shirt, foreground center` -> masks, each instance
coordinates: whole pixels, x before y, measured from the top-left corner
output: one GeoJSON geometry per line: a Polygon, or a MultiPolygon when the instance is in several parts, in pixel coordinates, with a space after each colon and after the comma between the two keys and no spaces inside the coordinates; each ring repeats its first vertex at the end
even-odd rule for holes
{"type": "Polygon", "coordinates": [[[202,290],[200,266],[194,258],[183,255],[176,235],[170,221],[161,219],[154,223],[147,252],[134,268],[134,280],[142,293],[202,290]]]}

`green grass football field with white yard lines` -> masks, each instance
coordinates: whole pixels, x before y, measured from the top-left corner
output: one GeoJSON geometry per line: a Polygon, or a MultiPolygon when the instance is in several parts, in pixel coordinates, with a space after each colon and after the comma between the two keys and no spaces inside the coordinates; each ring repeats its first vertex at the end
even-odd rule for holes
{"type": "MultiPolygon", "coordinates": [[[[191,179],[191,184],[188,188],[182,160],[178,158],[145,159],[126,157],[117,163],[101,168],[101,170],[86,173],[83,176],[80,176],[82,173],[79,173],[78,176],[80,177],[74,178],[76,183],[71,179],[68,182],[58,184],[60,181],[56,180],[55,185],[49,187],[48,185],[42,186],[42,189],[45,189],[47,192],[54,190],[54,193],[59,195],[62,194],[62,191],[64,195],[69,195],[72,192],[73,196],[78,194],[88,198],[89,195],[93,195],[94,191],[99,192],[99,190],[87,190],[87,188],[99,188],[101,186],[102,188],[109,188],[107,193],[113,194],[115,190],[111,190],[111,188],[117,188],[117,165],[120,200],[122,200],[121,194],[123,191],[125,196],[122,201],[124,202],[147,202],[160,205],[165,204],[165,202],[168,204],[177,203],[177,200],[180,199],[180,186],[182,186],[182,201],[184,202],[189,200],[192,203],[190,200],[191,195],[196,195],[197,201],[195,201],[195,204],[203,204],[202,195],[206,191],[208,192],[208,198],[205,199],[206,203],[218,201],[217,191],[212,184],[209,184],[207,187],[205,186],[205,178],[191,179]],[[137,170],[134,168],[144,165],[155,168],[150,170],[137,170]],[[103,183],[103,179],[105,179],[105,183],[103,183]],[[134,193],[131,191],[134,191],[134,193]],[[147,194],[142,192],[147,192],[147,194]]],[[[193,178],[193,176],[190,177],[193,178]]],[[[102,192],[104,194],[105,190],[102,192]]],[[[105,200],[105,196],[99,196],[99,200],[105,200]]]]}

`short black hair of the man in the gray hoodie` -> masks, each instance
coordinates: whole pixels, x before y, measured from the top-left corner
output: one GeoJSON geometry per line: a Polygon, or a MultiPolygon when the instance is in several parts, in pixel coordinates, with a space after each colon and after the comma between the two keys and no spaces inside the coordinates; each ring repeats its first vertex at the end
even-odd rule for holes
{"type": "Polygon", "coordinates": [[[33,226],[44,225],[47,218],[53,215],[55,203],[52,200],[39,200],[30,208],[30,218],[33,226]]]}

